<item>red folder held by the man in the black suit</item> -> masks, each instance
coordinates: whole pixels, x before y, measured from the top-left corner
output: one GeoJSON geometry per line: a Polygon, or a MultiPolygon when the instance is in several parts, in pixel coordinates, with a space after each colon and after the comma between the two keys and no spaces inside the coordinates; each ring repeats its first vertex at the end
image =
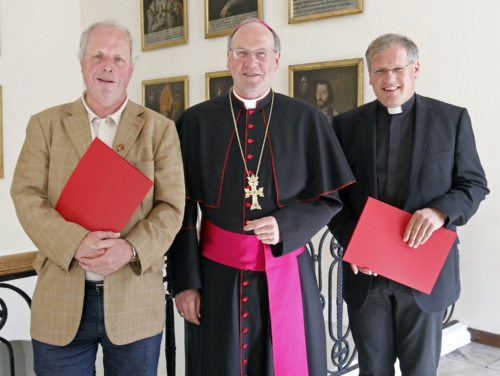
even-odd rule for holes
{"type": "Polygon", "coordinates": [[[403,241],[410,217],[369,197],[343,260],[430,294],[457,234],[440,228],[425,244],[410,248],[403,241]]]}

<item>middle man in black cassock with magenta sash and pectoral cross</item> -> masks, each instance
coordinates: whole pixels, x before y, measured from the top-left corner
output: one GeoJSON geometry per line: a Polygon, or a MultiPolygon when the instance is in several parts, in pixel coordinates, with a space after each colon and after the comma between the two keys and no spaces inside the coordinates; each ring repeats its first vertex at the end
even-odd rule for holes
{"type": "Polygon", "coordinates": [[[228,42],[230,94],[178,121],[187,200],[169,259],[186,374],[325,376],[320,295],[303,247],[354,178],[326,117],[271,89],[274,30],[250,19],[228,42]]]}

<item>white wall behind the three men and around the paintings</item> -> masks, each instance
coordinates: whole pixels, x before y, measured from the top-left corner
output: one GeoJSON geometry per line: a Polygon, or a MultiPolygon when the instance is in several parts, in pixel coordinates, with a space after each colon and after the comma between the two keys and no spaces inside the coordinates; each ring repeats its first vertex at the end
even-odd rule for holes
{"type": "MultiPolygon", "coordinates": [[[[283,42],[274,89],[288,92],[288,65],[362,57],[369,42],[386,32],[403,33],[421,51],[420,94],[466,106],[493,191],[477,215],[460,229],[462,297],[455,317],[467,326],[500,334],[500,137],[496,118],[500,60],[500,2],[482,0],[365,0],[362,14],[288,24],[287,0],[263,0],[264,19],[283,42]],[[495,144],[494,144],[495,143],[495,144]]],[[[4,170],[0,180],[0,254],[34,249],[9,196],[12,174],[29,115],[80,95],[75,58],[78,34],[89,23],[114,18],[140,42],[140,1],[0,0],[0,84],[3,85],[4,170]]],[[[225,69],[224,37],[204,38],[201,0],[188,0],[189,43],[141,53],[130,82],[141,102],[141,81],[189,76],[189,103],[205,98],[205,72],[225,69]]],[[[374,99],[364,73],[365,102],[374,99]]]]}

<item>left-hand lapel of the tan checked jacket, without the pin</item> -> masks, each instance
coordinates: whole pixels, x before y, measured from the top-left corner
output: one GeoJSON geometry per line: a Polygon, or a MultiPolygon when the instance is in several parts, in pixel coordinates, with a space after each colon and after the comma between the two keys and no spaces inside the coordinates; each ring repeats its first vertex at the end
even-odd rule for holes
{"type": "Polygon", "coordinates": [[[81,158],[92,141],[87,111],[81,98],[69,104],[69,116],[62,119],[66,132],[81,158]],[[86,126],[82,126],[86,124],[86,126]]]}

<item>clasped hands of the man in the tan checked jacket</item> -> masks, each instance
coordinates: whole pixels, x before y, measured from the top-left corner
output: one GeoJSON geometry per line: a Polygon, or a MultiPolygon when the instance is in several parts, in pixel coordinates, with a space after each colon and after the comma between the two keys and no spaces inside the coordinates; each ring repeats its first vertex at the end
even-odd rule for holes
{"type": "Polygon", "coordinates": [[[80,266],[105,276],[126,265],[132,258],[132,246],[119,236],[119,233],[105,231],[87,234],[75,253],[80,266]]]}

